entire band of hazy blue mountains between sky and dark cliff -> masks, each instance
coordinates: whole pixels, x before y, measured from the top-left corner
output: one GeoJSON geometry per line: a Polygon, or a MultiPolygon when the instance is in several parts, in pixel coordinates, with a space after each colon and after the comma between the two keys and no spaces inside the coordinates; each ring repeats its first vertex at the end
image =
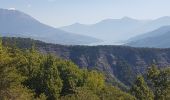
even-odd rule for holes
{"type": "Polygon", "coordinates": [[[23,12],[0,9],[0,34],[64,45],[126,43],[125,45],[134,47],[169,48],[170,17],[166,16],[155,20],[124,17],[106,19],[91,25],[75,23],[70,26],[54,28],[23,12]],[[104,42],[102,43],[102,41],[104,42]]]}

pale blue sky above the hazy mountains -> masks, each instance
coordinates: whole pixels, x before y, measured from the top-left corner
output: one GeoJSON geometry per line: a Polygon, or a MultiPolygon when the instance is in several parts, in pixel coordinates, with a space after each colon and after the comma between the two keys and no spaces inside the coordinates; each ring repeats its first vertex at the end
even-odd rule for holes
{"type": "Polygon", "coordinates": [[[136,19],[170,16],[170,0],[0,0],[0,8],[23,11],[53,27],[93,24],[124,16],[136,19]]]}

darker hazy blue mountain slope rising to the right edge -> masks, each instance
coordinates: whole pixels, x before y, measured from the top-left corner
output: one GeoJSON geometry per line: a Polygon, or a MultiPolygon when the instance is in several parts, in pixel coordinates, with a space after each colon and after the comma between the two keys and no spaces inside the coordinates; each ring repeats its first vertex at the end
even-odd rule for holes
{"type": "Polygon", "coordinates": [[[134,47],[170,48],[170,26],[132,38],[126,45],[134,47]]]}

